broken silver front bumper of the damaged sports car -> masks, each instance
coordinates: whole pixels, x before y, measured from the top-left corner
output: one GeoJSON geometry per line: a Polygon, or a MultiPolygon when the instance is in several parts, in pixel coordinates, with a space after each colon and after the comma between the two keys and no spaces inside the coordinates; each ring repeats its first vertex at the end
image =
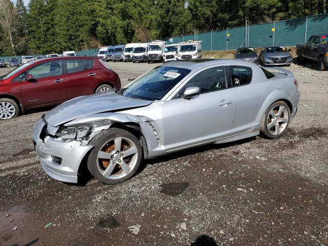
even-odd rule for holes
{"type": "Polygon", "coordinates": [[[47,128],[43,119],[35,125],[32,133],[35,150],[43,170],[52,178],[77,183],[77,172],[84,156],[93,146],[81,146],[80,141],[63,142],[45,136],[47,128]]]}

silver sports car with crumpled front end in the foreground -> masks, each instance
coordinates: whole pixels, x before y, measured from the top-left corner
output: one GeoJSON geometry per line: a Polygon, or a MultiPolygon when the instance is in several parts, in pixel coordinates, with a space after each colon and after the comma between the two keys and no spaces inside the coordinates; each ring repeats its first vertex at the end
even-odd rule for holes
{"type": "Polygon", "coordinates": [[[300,92],[294,75],[240,60],[172,61],[125,88],[71,99],[33,130],[43,169],[76,183],[87,162],[101,182],[133,176],[149,159],[262,133],[280,137],[300,92]]]}

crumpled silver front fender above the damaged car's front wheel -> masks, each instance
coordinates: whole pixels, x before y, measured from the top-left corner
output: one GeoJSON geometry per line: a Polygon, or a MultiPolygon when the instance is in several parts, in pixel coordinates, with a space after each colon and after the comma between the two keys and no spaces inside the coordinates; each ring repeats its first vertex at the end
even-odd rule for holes
{"type": "MultiPolygon", "coordinates": [[[[132,122],[138,124],[141,134],[147,144],[148,155],[145,158],[152,158],[165,155],[164,141],[158,136],[156,129],[151,121],[145,121],[138,116],[125,113],[99,113],[80,117],[65,124],[65,126],[92,126],[94,131],[91,133],[89,141],[104,129],[109,129],[114,123],[128,124],[132,122]]],[[[145,146],[144,146],[145,148],[145,146]]]]}

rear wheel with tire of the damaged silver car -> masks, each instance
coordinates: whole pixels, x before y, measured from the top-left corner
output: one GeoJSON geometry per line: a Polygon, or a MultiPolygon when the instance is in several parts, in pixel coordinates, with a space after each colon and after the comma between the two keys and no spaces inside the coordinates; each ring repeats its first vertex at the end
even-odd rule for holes
{"type": "Polygon", "coordinates": [[[276,101],[265,111],[260,132],[268,138],[282,136],[288,128],[290,115],[288,105],[284,101],[276,101]]]}

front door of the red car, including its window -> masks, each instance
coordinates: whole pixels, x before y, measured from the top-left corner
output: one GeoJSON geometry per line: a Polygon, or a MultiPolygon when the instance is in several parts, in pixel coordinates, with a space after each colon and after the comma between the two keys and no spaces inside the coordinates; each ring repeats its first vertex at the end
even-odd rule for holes
{"type": "Polygon", "coordinates": [[[27,107],[57,104],[66,100],[65,75],[61,60],[40,63],[20,74],[20,91],[27,107]],[[30,74],[33,79],[26,80],[30,74]]]}

